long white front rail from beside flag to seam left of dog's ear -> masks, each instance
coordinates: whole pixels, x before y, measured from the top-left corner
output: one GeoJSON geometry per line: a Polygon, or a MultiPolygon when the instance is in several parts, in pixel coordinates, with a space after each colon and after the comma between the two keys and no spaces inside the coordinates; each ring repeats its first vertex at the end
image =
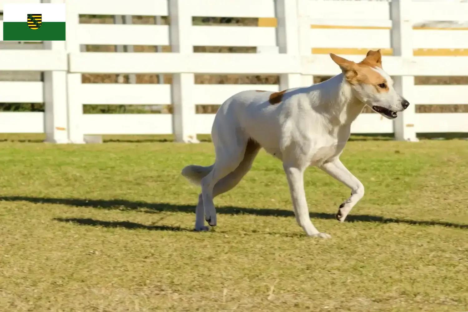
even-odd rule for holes
{"type": "MultiPolygon", "coordinates": [[[[330,60],[331,62],[331,60],[330,60]]],[[[299,73],[300,58],[254,53],[70,53],[71,73],[299,73]]]]}

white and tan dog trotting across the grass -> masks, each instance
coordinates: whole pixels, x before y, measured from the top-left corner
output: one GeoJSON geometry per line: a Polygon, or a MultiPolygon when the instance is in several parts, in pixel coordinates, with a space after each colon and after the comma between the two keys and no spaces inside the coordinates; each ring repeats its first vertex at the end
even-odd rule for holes
{"type": "Polygon", "coordinates": [[[182,175],[201,185],[195,230],[216,225],[213,197],[234,188],[252,167],[261,147],[282,160],[294,214],[308,236],[329,238],[310,221],[304,171],[316,166],[351,189],[336,218],[343,222],[364,196],[364,186],[339,160],[350,137],[351,123],[364,106],[388,119],[409,106],[382,69],[381,53],[369,51],[360,63],[330,53],[342,73],[309,87],[281,92],[242,91],[219,108],[212,127],[213,165],[184,167],[182,175]],[[204,218],[205,216],[205,218],[204,218]],[[205,220],[204,220],[205,219],[205,220]]]}

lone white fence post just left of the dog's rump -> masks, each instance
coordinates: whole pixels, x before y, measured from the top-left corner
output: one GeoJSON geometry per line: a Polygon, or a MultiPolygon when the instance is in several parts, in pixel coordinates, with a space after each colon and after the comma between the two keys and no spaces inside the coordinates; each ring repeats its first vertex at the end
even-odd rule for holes
{"type": "MultiPolygon", "coordinates": [[[[192,0],[168,1],[172,53],[192,54],[193,46],[190,40],[192,28],[190,2],[192,0]]],[[[199,142],[195,133],[195,103],[192,96],[194,85],[195,75],[193,73],[172,74],[172,120],[176,142],[199,142]]]]}

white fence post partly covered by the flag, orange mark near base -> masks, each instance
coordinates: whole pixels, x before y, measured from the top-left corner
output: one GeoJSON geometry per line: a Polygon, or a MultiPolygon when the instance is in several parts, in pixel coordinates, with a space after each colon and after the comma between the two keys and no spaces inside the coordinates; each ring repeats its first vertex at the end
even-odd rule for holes
{"type": "MultiPolygon", "coordinates": [[[[42,3],[64,3],[63,0],[42,0],[42,3]]],[[[66,53],[65,41],[44,41],[44,49],[66,53]]],[[[68,143],[66,107],[66,71],[44,72],[45,141],[68,143]]]]}

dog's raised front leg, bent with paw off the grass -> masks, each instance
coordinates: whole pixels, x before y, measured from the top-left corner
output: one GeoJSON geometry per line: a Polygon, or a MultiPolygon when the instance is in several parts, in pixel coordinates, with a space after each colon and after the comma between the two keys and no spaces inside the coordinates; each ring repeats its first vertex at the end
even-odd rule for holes
{"type": "Polygon", "coordinates": [[[351,189],[351,197],[340,205],[336,213],[336,219],[343,222],[352,207],[364,196],[364,185],[344,167],[338,158],[323,164],[320,168],[351,189]]]}

